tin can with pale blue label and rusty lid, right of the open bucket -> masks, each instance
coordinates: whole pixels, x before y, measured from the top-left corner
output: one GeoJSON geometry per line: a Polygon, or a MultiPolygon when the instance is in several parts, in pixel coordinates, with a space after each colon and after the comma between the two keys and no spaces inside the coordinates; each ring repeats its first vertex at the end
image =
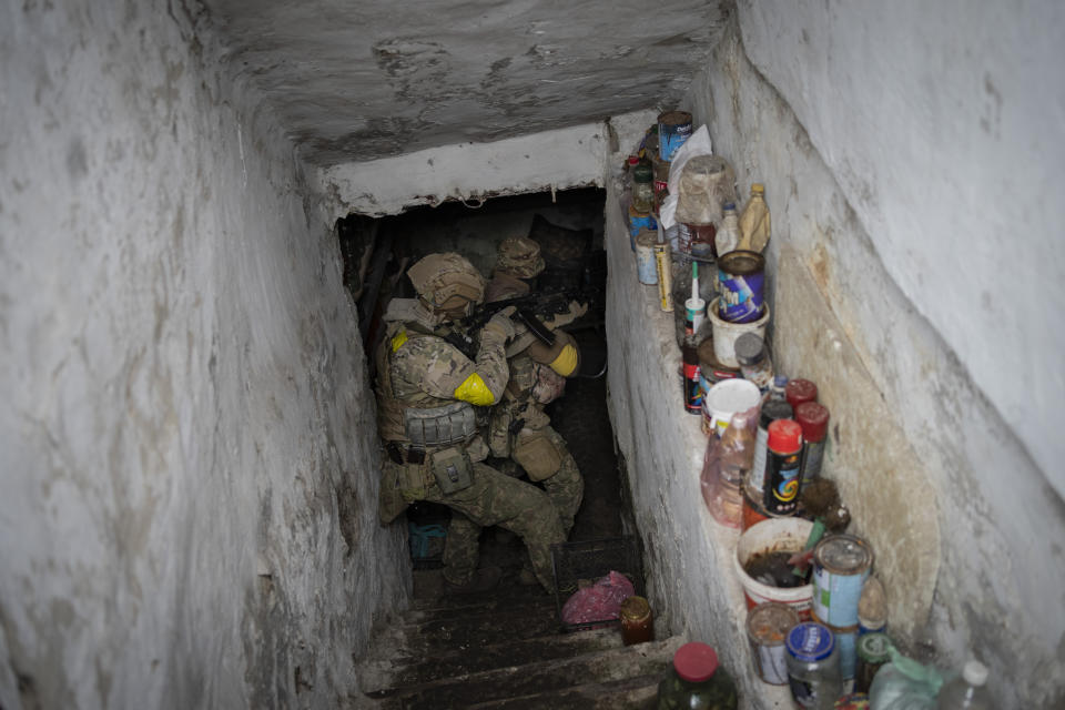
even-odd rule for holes
{"type": "Polygon", "coordinates": [[[862,585],[873,567],[873,550],[854,535],[826,537],[813,549],[813,612],[825,623],[858,629],[862,585]]]}

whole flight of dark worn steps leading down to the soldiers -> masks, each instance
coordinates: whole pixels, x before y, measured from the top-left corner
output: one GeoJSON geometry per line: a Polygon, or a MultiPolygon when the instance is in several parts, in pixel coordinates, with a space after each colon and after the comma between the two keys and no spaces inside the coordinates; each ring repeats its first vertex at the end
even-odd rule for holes
{"type": "MultiPolygon", "coordinates": [[[[415,572],[416,578],[434,572],[415,572]]],[[[625,647],[616,627],[566,633],[555,599],[508,585],[419,595],[358,666],[356,707],[653,708],[679,637],[625,647]]]]}

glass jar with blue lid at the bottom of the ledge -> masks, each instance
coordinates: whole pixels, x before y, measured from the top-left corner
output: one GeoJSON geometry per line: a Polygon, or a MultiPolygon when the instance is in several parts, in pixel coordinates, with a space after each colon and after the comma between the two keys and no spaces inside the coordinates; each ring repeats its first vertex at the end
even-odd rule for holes
{"type": "Polygon", "coordinates": [[[804,621],[788,633],[788,684],[800,708],[832,710],[843,694],[835,637],[822,623],[804,621]]]}

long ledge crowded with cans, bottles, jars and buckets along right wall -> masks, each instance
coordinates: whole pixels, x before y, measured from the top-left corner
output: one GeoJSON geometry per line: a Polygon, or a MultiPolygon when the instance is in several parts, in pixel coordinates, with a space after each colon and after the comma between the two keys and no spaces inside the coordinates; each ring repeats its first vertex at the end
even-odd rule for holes
{"type": "MultiPolygon", "coordinates": [[[[652,428],[619,437],[633,497],[670,507],[642,514],[652,538],[672,532],[652,547],[711,567],[709,610],[687,607],[672,623],[716,640],[744,707],[862,707],[899,655],[873,549],[848,534],[850,511],[821,471],[829,408],[814,382],[773,368],[764,186],[752,184],[738,210],[734,174],[711,154],[706,126],[688,126],[671,153],[668,128],[652,126],[615,176],[620,220],[608,215],[608,251],[629,306],[611,365],[626,400],[616,397],[612,416],[652,428]]],[[[651,585],[662,604],[689,601],[663,587],[651,585]]]]}

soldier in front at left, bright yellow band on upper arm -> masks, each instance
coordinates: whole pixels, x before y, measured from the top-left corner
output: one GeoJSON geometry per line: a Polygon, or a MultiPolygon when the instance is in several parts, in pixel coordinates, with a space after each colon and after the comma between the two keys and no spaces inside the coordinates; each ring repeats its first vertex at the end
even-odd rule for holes
{"type": "Polygon", "coordinates": [[[514,335],[509,313],[480,331],[470,359],[442,334],[481,301],[485,282],[458,254],[432,254],[407,275],[418,300],[395,300],[376,353],[378,430],[383,462],[379,516],[394,520],[408,503],[428,500],[452,509],[443,577],[453,591],[490,588],[498,568],[477,569],[481,526],[518,535],[537,580],[554,589],[550,546],[565,540],[558,513],[535,486],[484,464],[488,447],[478,415],[499,402],[508,378],[505,344],[514,335]]]}

